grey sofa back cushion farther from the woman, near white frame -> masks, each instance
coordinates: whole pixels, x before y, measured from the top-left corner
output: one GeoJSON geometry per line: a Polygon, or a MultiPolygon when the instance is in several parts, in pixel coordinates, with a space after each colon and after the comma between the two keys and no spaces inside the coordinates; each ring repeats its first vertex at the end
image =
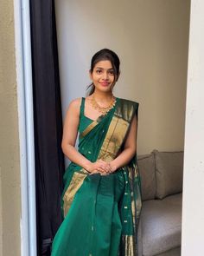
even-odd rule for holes
{"type": "Polygon", "coordinates": [[[156,164],[156,198],[182,192],[183,151],[159,152],[154,149],[156,164]]]}

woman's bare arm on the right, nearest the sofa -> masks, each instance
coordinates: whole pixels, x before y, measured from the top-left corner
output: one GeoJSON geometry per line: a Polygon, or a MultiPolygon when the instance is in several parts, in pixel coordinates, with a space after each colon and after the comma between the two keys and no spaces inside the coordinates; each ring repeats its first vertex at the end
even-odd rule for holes
{"type": "Polygon", "coordinates": [[[110,162],[110,166],[112,167],[112,172],[116,171],[119,167],[124,167],[124,165],[128,164],[131,161],[134,154],[136,154],[137,150],[137,117],[136,115],[133,117],[131,122],[131,128],[127,139],[124,143],[124,150],[110,162]]]}

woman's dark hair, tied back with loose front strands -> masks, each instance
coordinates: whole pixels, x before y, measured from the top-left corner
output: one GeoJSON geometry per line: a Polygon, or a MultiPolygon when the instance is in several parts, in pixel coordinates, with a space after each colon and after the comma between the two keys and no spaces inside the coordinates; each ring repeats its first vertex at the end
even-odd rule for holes
{"type": "MultiPolygon", "coordinates": [[[[118,81],[118,75],[120,73],[120,70],[119,70],[120,61],[119,61],[118,55],[111,49],[106,49],[106,48],[101,49],[97,53],[95,53],[94,56],[92,56],[90,72],[92,73],[92,70],[94,69],[97,62],[106,61],[106,60],[112,63],[112,69],[114,71],[113,83],[115,83],[118,81]]],[[[90,89],[90,92],[88,95],[92,95],[95,89],[94,84],[93,83],[89,84],[87,89],[90,89]]]]}

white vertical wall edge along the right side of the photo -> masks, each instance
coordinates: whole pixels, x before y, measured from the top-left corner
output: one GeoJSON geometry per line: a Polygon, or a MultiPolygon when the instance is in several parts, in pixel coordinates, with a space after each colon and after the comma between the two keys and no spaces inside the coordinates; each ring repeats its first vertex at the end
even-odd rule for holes
{"type": "Polygon", "coordinates": [[[182,204],[182,256],[204,255],[204,2],[191,1],[182,204]]]}

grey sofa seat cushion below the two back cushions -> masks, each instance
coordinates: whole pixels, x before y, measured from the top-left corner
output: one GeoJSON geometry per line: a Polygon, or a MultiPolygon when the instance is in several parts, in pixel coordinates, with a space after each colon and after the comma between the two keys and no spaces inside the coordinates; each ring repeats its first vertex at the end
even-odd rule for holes
{"type": "Polygon", "coordinates": [[[181,245],[182,193],[163,200],[146,200],[141,212],[143,256],[166,252],[181,245]]]}

